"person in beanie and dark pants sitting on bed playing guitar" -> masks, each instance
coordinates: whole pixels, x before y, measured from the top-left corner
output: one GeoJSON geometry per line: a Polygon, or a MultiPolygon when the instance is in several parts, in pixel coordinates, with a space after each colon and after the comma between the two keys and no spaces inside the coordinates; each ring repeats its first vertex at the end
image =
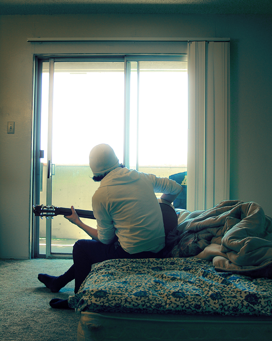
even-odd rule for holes
{"type": "MultiPolygon", "coordinates": [[[[75,279],[75,293],[91,271],[91,265],[116,258],[159,258],[165,246],[163,217],[155,192],[172,203],[182,191],[174,180],[129,170],[119,164],[107,144],[95,146],[90,153],[94,181],[101,181],[92,197],[97,229],[84,224],[72,206],[71,223],[92,239],[78,240],[73,247],[72,267],[55,277],[39,274],[38,279],[52,292],[75,279]]],[[[68,308],[68,300],[54,298],[53,308],[68,308]]]]}

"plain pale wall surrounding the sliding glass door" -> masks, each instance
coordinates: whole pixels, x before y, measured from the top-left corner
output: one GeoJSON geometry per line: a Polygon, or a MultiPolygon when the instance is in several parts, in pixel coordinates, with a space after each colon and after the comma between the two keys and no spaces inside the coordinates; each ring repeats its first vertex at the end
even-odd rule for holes
{"type": "Polygon", "coordinates": [[[271,15],[0,16],[0,257],[30,257],[33,55],[90,52],[88,43],[28,37],[230,37],[230,198],[272,216],[271,15]],[[15,133],[7,134],[7,122],[15,133]]]}

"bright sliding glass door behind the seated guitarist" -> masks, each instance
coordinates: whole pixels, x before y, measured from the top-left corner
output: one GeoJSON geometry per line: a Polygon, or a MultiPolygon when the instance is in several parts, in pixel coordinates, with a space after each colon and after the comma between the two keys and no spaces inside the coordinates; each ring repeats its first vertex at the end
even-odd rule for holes
{"type": "MultiPolygon", "coordinates": [[[[91,210],[99,183],[91,179],[89,153],[99,143],[111,145],[128,168],[167,177],[186,171],[186,56],[37,63],[35,205],[91,210]]],[[[76,240],[90,238],[63,216],[35,218],[35,232],[36,257],[67,257],[76,240]]]]}

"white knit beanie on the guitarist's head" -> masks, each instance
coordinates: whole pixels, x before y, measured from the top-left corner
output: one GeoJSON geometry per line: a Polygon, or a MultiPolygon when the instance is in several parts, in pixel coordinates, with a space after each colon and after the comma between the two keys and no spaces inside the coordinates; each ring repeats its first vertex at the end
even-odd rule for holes
{"type": "Polygon", "coordinates": [[[119,167],[119,160],[114,150],[108,144],[102,143],[92,148],[89,164],[93,175],[98,176],[119,167]]]}

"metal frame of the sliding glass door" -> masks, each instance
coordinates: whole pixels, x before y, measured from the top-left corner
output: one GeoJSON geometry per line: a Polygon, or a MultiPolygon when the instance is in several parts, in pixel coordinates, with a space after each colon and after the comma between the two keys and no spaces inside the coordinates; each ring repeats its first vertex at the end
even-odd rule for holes
{"type": "MultiPolygon", "coordinates": [[[[52,131],[52,106],[53,106],[53,74],[54,74],[54,62],[56,61],[124,61],[124,69],[125,69],[125,76],[127,73],[127,65],[130,61],[161,61],[161,60],[187,60],[187,55],[182,53],[180,55],[161,55],[161,54],[152,54],[152,55],[90,55],[90,56],[63,56],[63,55],[52,55],[52,56],[35,56],[35,85],[34,85],[34,158],[33,158],[33,204],[39,205],[40,204],[40,195],[39,195],[39,188],[41,183],[41,167],[40,167],[40,159],[42,156],[41,151],[41,112],[42,112],[42,67],[43,62],[49,62],[49,101],[48,101],[48,141],[51,141],[51,131],[52,131]]],[[[128,78],[126,77],[125,83],[125,110],[124,110],[124,161],[126,164],[129,165],[129,157],[128,153],[126,152],[126,144],[129,145],[129,136],[126,124],[128,124],[128,78]]],[[[52,154],[52,145],[48,146],[47,150],[47,185],[46,185],[46,205],[51,205],[51,196],[52,196],[52,183],[51,183],[51,168],[49,162],[51,162],[51,154],[52,154]]],[[[46,219],[46,251],[45,254],[39,253],[39,238],[40,238],[40,217],[33,218],[33,233],[32,233],[32,256],[34,258],[71,258],[71,254],[61,254],[61,253],[51,253],[51,243],[48,240],[51,240],[51,219],[46,219]]]]}

